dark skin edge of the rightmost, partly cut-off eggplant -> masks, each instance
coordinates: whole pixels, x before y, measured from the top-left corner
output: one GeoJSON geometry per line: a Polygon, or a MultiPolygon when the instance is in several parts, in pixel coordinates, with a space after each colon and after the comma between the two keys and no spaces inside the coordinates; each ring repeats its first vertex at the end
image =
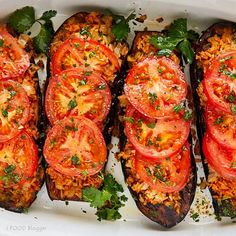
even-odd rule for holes
{"type": "MultiPolygon", "coordinates": [[[[204,50],[204,48],[207,47],[208,44],[208,38],[212,37],[213,35],[217,34],[217,31],[219,31],[222,28],[232,28],[234,32],[236,32],[236,23],[229,22],[229,21],[222,21],[213,24],[210,26],[207,30],[202,32],[202,35],[200,36],[197,44],[195,45],[195,53],[199,53],[200,51],[204,50]]],[[[195,109],[197,114],[197,133],[200,143],[203,141],[204,134],[206,132],[206,120],[204,116],[204,108],[200,104],[200,98],[197,93],[197,87],[199,83],[203,80],[204,74],[203,69],[197,64],[196,60],[193,62],[193,64],[190,66],[190,78],[191,78],[191,86],[193,91],[193,98],[195,103],[195,109]]],[[[209,175],[209,167],[206,162],[206,158],[204,156],[202,145],[200,145],[200,152],[201,152],[201,158],[202,163],[204,167],[204,172],[206,175],[206,179],[208,179],[209,175]]],[[[221,204],[217,202],[217,200],[214,198],[215,192],[212,191],[210,188],[210,192],[212,195],[212,203],[215,210],[216,216],[219,218],[221,216],[228,216],[228,217],[236,217],[236,209],[232,209],[232,204],[228,200],[222,200],[221,204]],[[229,208],[231,210],[229,211],[229,208]]]]}

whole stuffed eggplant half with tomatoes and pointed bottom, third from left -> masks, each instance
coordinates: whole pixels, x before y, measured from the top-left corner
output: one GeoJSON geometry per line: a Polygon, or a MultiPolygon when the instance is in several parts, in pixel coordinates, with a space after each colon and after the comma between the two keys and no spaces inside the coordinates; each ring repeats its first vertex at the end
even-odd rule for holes
{"type": "Polygon", "coordinates": [[[170,228],[188,213],[196,188],[191,154],[188,85],[177,54],[157,56],[158,32],[137,32],[117,94],[126,183],[139,210],[170,228]]]}

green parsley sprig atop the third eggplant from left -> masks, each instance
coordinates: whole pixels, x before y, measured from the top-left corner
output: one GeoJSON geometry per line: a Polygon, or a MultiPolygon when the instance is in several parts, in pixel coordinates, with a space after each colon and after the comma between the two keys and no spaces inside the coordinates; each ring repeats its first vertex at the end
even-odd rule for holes
{"type": "Polygon", "coordinates": [[[170,55],[174,49],[178,49],[185,61],[191,64],[194,57],[191,43],[198,37],[198,33],[187,29],[187,19],[179,18],[170,25],[166,36],[152,36],[150,43],[160,49],[158,55],[170,55]]]}

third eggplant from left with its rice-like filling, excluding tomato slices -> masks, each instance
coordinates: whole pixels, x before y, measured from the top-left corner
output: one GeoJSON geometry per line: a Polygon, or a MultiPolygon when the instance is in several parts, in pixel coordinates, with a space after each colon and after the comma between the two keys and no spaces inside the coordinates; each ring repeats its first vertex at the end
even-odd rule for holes
{"type": "MultiPolygon", "coordinates": [[[[191,151],[191,164],[189,163],[189,167],[186,167],[186,169],[189,168],[189,175],[185,176],[185,186],[182,186],[181,190],[178,190],[175,193],[161,193],[154,190],[152,192],[152,188],[150,188],[150,182],[149,183],[141,183],[139,184],[139,177],[136,176],[136,173],[139,172],[138,169],[134,169],[134,162],[132,162],[132,155],[137,155],[137,151],[135,148],[131,145],[130,141],[127,139],[127,129],[125,129],[124,126],[127,126],[128,123],[134,123],[136,122],[136,119],[134,119],[133,115],[130,115],[131,113],[128,113],[127,115],[127,107],[130,105],[127,101],[127,98],[124,96],[124,84],[125,79],[127,80],[126,76],[127,73],[132,70],[132,68],[136,65],[136,63],[145,61],[146,58],[153,58],[155,55],[157,55],[158,49],[155,48],[150,44],[150,37],[155,35],[163,35],[163,33],[159,32],[151,32],[151,31],[144,31],[144,32],[136,32],[135,39],[133,41],[133,45],[130,51],[130,54],[128,56],[128,63],[126,65],[126,72],[124,72],[123,79],[117,80],[117,91],[116,94],[117,97],[117,111],[119,119],[117,120],[117,128],[118,128],[118,135],[120,139],[120,150],[121,152],[118,154],[118,158],[121,159],[122,163],[122,169],[125,177],[125,181],[128,185],[128,188],[131,192],[131,195],[138,207],[138,209],[149,219],[151,219],[154,222],[157,222],[161,226],[164,226],[166,228],[170,228],[181,222],[186,214],[188,213],[190,209],[190,205],[194,199],[195,196],[195,189],[196,189],[196,183],[197,183],[197,172],[196,172],[196,165],[195,160],[192,155],[191,151]],[[125,124],[126,122],[126,124],[125,124]],[[128,122],[128,123],[127,123],[128,122]],[[124,131],[125,130],[125,131],[124,131]],[[139,186],[141,187],[141,190],[138,190],[139,186]],[[154,195],[153,195],[154,194],[154,195]],[[152,195],[152,196],[150,196],[152,195]],[[156,198],[155,198],[156,196],[156,198]],[[158,199],[159,198],[159,199],[158,199]]],[[[171,60],[175,61],[177,64],[181,63],[180,57],[178,57],[178,54],[173,53],[171,55],[171,60]]],[[[157,65],[156,65],[157,66],[157,65]]],[[[162,69],[158,69],[159,73],[162,73],[162,69]]],[[[132,72],[131,72],[132,73],[132,72]]],[[[141,72],[140,72],[141,73],[141,72]]],[[[135,75],[132,75],[134,78],[135,75]]],[[[145,75],[143,75],[145,76],[145,75]]],[[[140,92],[141,93],[141,92],[140,92]]],[[[154,100],[155,97],[154,97],[154,100]]],[[[153,100],[153,96],[150,97],[150,102],[153,104],[155,102],[153,100]]],[[[128,108],[129,109],[129,108],[128,108]]],[[[159,107],[157,108],[159,110],[159,107]]],[[[132,113],[134,114],[134,113],[132,113]]],[[[141,119],[138,119],[137,121],[137,129],[142,125],[139,122],[144,122],[141,119]]],[[[178,121],[176,121],[177,124],[178,121]]],[[[181,121],[179,121],[181,122],[181,121]]],[[[149,128],[153,128],[152,122],[150,124],[147,124],[149,128]]],[[[185,129],[185,126],[188,126],[187,123],[182,126],[182,129],[185,129]]],[[[168,129],[168,127],[166,127],[168,129]]],[[[191,135],[189,135],[189,132],[187,132],[186,139],[188,139],[189,143],[191,143],[191,135]]],[[[129,136],[129,134],[128,134],[129,136]]],[[[160,140],[159,140],[160,141],[160,140]]],[[[149,146],[152,143],[147,142],[147,146],[149,146]]],[[[186,146],[183,146],[182,150],[186,151],[186,146]]],[[[146,153],[147,154],[147,153],[146,153]]],[[[190,160],[189,159],[189,160],[190,160]]],[[[169,161],[169,157],[166,158],[167,161],[169,161]]],[[[144,159],[144,161],[148,162],[148,159],[144,159]]],[[[158,166],[157,166],[158,167],[158,166]]],[[[157,168],[158,169],[158,168],[157,168]]],[[[147,172],[147,175],[151,175],[150,169],[148,170],[143,169],[143,172],[147,172]]],[[[156,173],[154,173],[157,180],[160,182],[164,182],[164,178],[162,176],[163,170],[158,169],[156,173]]],[[[139,176],[140,176],[139,172],[139,176]]],[[[142,174],[141,174],[142,175],[142,174]]],[[[184,179],[184,177],[183,177],[184,179]]],[[[170,183],[166,181],[166,185],[170,186],[170,183]]],[[[167,187],[168,188],[168,187],[167,187]]]]}

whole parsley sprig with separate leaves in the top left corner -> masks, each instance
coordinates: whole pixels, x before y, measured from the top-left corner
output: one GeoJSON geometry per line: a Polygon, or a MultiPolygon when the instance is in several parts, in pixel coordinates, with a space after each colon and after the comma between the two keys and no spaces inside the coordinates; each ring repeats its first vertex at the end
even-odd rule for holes
{"type": "Polygon", "coordinates": [[[30,30],[36,22],[39,23],[41,28],[38,35],[33,38],[33,44],[36,52],[45,53],[54,34],[51,18],[56,16],[56,14],[55,10],[49,10],[36,19],[35,9],[31,6],[26,6],[10,14],[7,22],[13,30],[20,34],[30,30]]]}

